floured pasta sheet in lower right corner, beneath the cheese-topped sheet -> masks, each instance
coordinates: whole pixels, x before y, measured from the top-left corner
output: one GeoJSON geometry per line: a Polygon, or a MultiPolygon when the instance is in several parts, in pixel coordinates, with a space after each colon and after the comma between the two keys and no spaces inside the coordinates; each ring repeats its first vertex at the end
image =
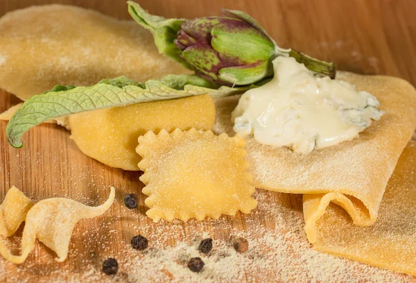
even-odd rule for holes
{"type": "Polygon", "coordinates": [[[304,195],[306,233],[313,248],[367,264],[416,275],[416,141],[410,141],[385,189],[376,223],[359,227],[330,204],[318,220],[322,195],[304,195]]]}

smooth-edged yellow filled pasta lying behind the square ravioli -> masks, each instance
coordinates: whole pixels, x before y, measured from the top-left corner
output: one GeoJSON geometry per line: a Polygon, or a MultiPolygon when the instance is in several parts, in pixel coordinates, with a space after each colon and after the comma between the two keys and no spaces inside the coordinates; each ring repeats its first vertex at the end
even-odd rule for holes
{"type": "Polygon", "coordinates": [[[137,138],[148,130],[210,130],[215,122],[211,96],[137,103],[69,116],[71,139],[86,155],[111,167],[138,171],[137,138]]]}

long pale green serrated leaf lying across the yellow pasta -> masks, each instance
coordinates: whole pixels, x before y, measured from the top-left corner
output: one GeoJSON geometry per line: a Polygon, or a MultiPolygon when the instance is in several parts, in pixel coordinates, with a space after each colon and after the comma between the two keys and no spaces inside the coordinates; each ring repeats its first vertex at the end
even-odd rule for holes
{"type": "Polygon", "coordinates": [[[184,98],[200,94],[214,97],[239,94],[256,87],[226,87],[196,75],[168,75],[161,80],[137,83],[121,76],[101,80],[92,87],[57,85],[49,92],[37,94],[21,105],[6,127],[9,144],[23,146],[21,136],[44,121],[70,114],[149,101],[184,98]]]}

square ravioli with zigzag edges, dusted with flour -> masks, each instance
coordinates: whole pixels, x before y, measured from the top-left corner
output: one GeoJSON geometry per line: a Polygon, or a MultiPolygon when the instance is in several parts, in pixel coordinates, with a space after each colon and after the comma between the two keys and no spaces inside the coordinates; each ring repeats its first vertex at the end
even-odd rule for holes
{"type": "Polygon", "coordinates": [[[249,213],[257,200],[252,198],[244,144],[239,137],[196,129],[176,129],[170,135],[150,131],[139,137],[140,180],[150,207],[146,214],[157,222],[249,213]]]}

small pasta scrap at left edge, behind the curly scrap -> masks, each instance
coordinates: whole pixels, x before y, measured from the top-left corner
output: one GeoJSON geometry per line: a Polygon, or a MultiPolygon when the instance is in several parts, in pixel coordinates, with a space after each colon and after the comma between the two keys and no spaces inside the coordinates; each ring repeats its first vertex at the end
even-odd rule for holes
{"type": "Polygon", "coordinates": [[[0,234],[4,237],[15,234],[34,204],[17,187],[11,187],[0,205],[0,234]]]}

